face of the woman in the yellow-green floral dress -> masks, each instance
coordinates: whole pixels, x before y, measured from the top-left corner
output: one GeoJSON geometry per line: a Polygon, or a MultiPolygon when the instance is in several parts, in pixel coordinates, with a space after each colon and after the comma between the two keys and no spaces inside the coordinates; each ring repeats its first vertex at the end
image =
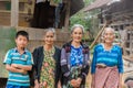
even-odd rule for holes
{"type": "Polygon", "coordinates": [[[54,33],[49,31],[44,35],[44,43],[48,45],[53,45],[54,42],[54,33]]]}

